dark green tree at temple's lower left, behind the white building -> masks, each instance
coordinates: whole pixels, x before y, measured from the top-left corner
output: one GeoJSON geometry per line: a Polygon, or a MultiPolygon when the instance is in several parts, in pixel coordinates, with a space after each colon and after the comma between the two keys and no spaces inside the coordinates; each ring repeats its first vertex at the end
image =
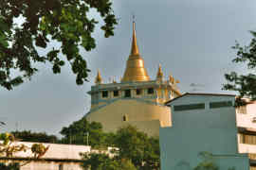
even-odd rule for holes
{"type": "Polygon", "coordinates": [[[89,145],[95,147],[104,144],[105,134],[100,123],[89,123],[85,117],[72,123],[69,127],[63,127],[61,134],[64,135],[64,144],[86,144],[87,132],[89,135],[89,145]]]}

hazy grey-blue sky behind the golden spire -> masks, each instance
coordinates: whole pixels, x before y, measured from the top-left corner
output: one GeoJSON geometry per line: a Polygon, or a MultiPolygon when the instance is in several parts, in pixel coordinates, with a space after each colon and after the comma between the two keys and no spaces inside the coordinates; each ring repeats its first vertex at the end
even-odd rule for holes
{"type": "Polygon", "coordinates": [[[160,63],[166,78],[172,74],[180,81],[182,93],[233,93],[221,90],[224,74],[247,70],[231,62],[235,57],[231,46],[235,41],[250,42],[249,30],[256,30],[255,0],[113,0],[113,9],[119,25],[108,39],[103,37],[97,12],[90,13],[100,26],[94,33],[96,49],[81,49],[91,70],[89,82],[76,85],[68,65],[60,75],[53,75],[49,65],[39,65],[40,71],[14,90],[0,87],[0,120],[7,124],[0,131],[26,129],[59,135],[62,127],[81,119],[90,110],[87,92],[97,70],[106,83],[124,73],[133,14],[139,52],[152,79],[160,63]]]}

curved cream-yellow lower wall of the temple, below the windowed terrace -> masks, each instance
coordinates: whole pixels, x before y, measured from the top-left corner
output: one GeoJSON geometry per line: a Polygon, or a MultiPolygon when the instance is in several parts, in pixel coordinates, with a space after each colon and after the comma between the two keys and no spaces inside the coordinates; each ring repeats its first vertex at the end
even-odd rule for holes
{"type": "Polygon", "coordinates": [[[116,131],[131,124],[151,136],[159,135],[159,127],[171,126],[169,107],[146,103],[137,99],[119,99],[86,115],[90,122],[101,122],[105,131],[116,131]],[[126,116],[127,121],[123,121],[126,116]]]}

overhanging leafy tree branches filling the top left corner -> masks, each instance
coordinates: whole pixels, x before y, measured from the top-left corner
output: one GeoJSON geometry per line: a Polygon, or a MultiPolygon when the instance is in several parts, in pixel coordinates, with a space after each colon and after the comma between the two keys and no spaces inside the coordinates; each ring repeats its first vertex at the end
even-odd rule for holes
{"type": "Polygon", "coordinates": [[[50,63],[54,74],[61,72],[64,59],[76,75],[77,84],[86,81],[89,69],[79,53],[79,46],[86,51],[96,47],[92,37],[98,21],[88,17],[95,8],[104,25],[101,29],[107,38],[114,35],[117,20],[111,8],[111,0],[2,0],[0,5],[0,86],[11,90],[30,79],[38,69],[36,63],[50,63]],[[21,26],[14,22],[20,19],[21,26]],[[49,42],[59,42],[47,49],[49,42]],[[38,49],[46,49],[39,55],[38,49]],[[19,76],[11,76],[13,73],[19,76]]]}

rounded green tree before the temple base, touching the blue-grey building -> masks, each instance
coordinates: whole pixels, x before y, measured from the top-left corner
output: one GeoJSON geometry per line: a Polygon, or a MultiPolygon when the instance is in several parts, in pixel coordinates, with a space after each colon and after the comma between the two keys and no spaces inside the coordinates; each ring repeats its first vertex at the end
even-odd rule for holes
{"type": "Polygon", "coordinates": [[[131,160],[137,169],[159,169],[159,141],[149,138],[136,127],[120,127],[116,133],[115,146],[121,159],[131,160]]]}

